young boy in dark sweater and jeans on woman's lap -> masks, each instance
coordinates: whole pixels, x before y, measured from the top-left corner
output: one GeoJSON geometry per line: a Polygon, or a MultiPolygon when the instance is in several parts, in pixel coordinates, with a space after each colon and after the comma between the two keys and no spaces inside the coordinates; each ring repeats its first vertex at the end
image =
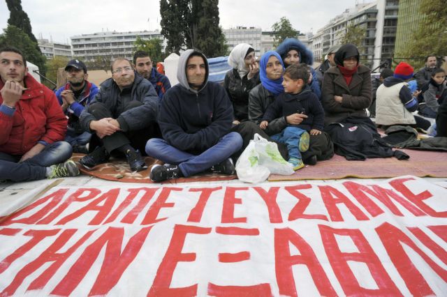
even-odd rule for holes
{"type": "Polygon", "coordinates": [[[324,111],[318,97],[312,93],[309,85],[308,66],[304,63],[291,65],[284,72],[284,93],[269,105],[263,116],[263,121],[259,124],[261,129],[265,129],[268,123],[274,119],[284,116],[288,126],[272,139],[283,142],[287,145],[288,155],[294,170],[304,167],[301,160],[301,153],[309,148],[309,133],[311,135],[321,134],[324,125],[324,111]],[[307,118],[301,121],[298,114],[305,114],[307,118]]]}

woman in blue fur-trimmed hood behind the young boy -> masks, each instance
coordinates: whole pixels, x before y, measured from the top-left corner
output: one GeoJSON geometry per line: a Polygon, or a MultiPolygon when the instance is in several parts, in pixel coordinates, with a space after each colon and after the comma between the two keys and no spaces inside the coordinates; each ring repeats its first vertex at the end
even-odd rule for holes
{"type": "Polygon", "coordinates": [[[298,65],[306,63],[309,65],[310,79],[309,86],[312,92],[321,100],[321,88],[318,84],[318,79],[312,64],[314,63],[314,54],[309,50],[304,43],[295,38],[286,38],[278,45],[277,52],[281,56],[284,66],[298,65]]]}

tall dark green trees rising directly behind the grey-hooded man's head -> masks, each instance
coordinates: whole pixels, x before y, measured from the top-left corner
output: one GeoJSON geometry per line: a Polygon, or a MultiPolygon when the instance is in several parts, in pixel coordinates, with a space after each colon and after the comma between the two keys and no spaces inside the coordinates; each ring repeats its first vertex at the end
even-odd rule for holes
{"type": "Polygon", "coordinates": [[[178,54],[195,48],[209,57],[226,54],[218,4],[219,0],[160,0],[161,33],[168,40],[166,52],[178,54]]]}

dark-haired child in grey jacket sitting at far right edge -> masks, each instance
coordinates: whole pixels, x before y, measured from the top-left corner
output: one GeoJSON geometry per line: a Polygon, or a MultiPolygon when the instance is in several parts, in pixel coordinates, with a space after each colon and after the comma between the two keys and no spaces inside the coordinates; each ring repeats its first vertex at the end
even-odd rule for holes
{"type": "Polygon", "coordinates": [[[432,77],[428,83],[427,89],[422,92],[425,103],[419,105],[419,114],[427,118],[436,118],[439,105],[447,97],[446,91],[446,71],[441,68],[433,70],[432,77]]]}

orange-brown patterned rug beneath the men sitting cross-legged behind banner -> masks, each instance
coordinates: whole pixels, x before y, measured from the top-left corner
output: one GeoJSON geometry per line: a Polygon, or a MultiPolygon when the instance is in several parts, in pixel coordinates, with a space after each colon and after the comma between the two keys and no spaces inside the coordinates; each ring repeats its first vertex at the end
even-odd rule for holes
{"type": "MultiPolygon", "coordinates": [[[[78,162],[84,154],[73,153],[72,160],[78,162]]],[[[149,178],[149,172],[152,165],[163,164],[163,162],[151,157],[145,157],[147,169],[141,172],[131,172],[129,163],[124,159],[110,158],[109,162],[98,165],[94,170],[87,170],[78,164],[82,174],[103,178],[108,181],[119,181],[122,183],[154,183],[149,178]]],[[[190,177],[183,177],[177,179],[170,179],[163,183],[191,183],[194,181],[230,181],[237,178],[236,175],[225,174],[198,174],[190,177]]]]}

